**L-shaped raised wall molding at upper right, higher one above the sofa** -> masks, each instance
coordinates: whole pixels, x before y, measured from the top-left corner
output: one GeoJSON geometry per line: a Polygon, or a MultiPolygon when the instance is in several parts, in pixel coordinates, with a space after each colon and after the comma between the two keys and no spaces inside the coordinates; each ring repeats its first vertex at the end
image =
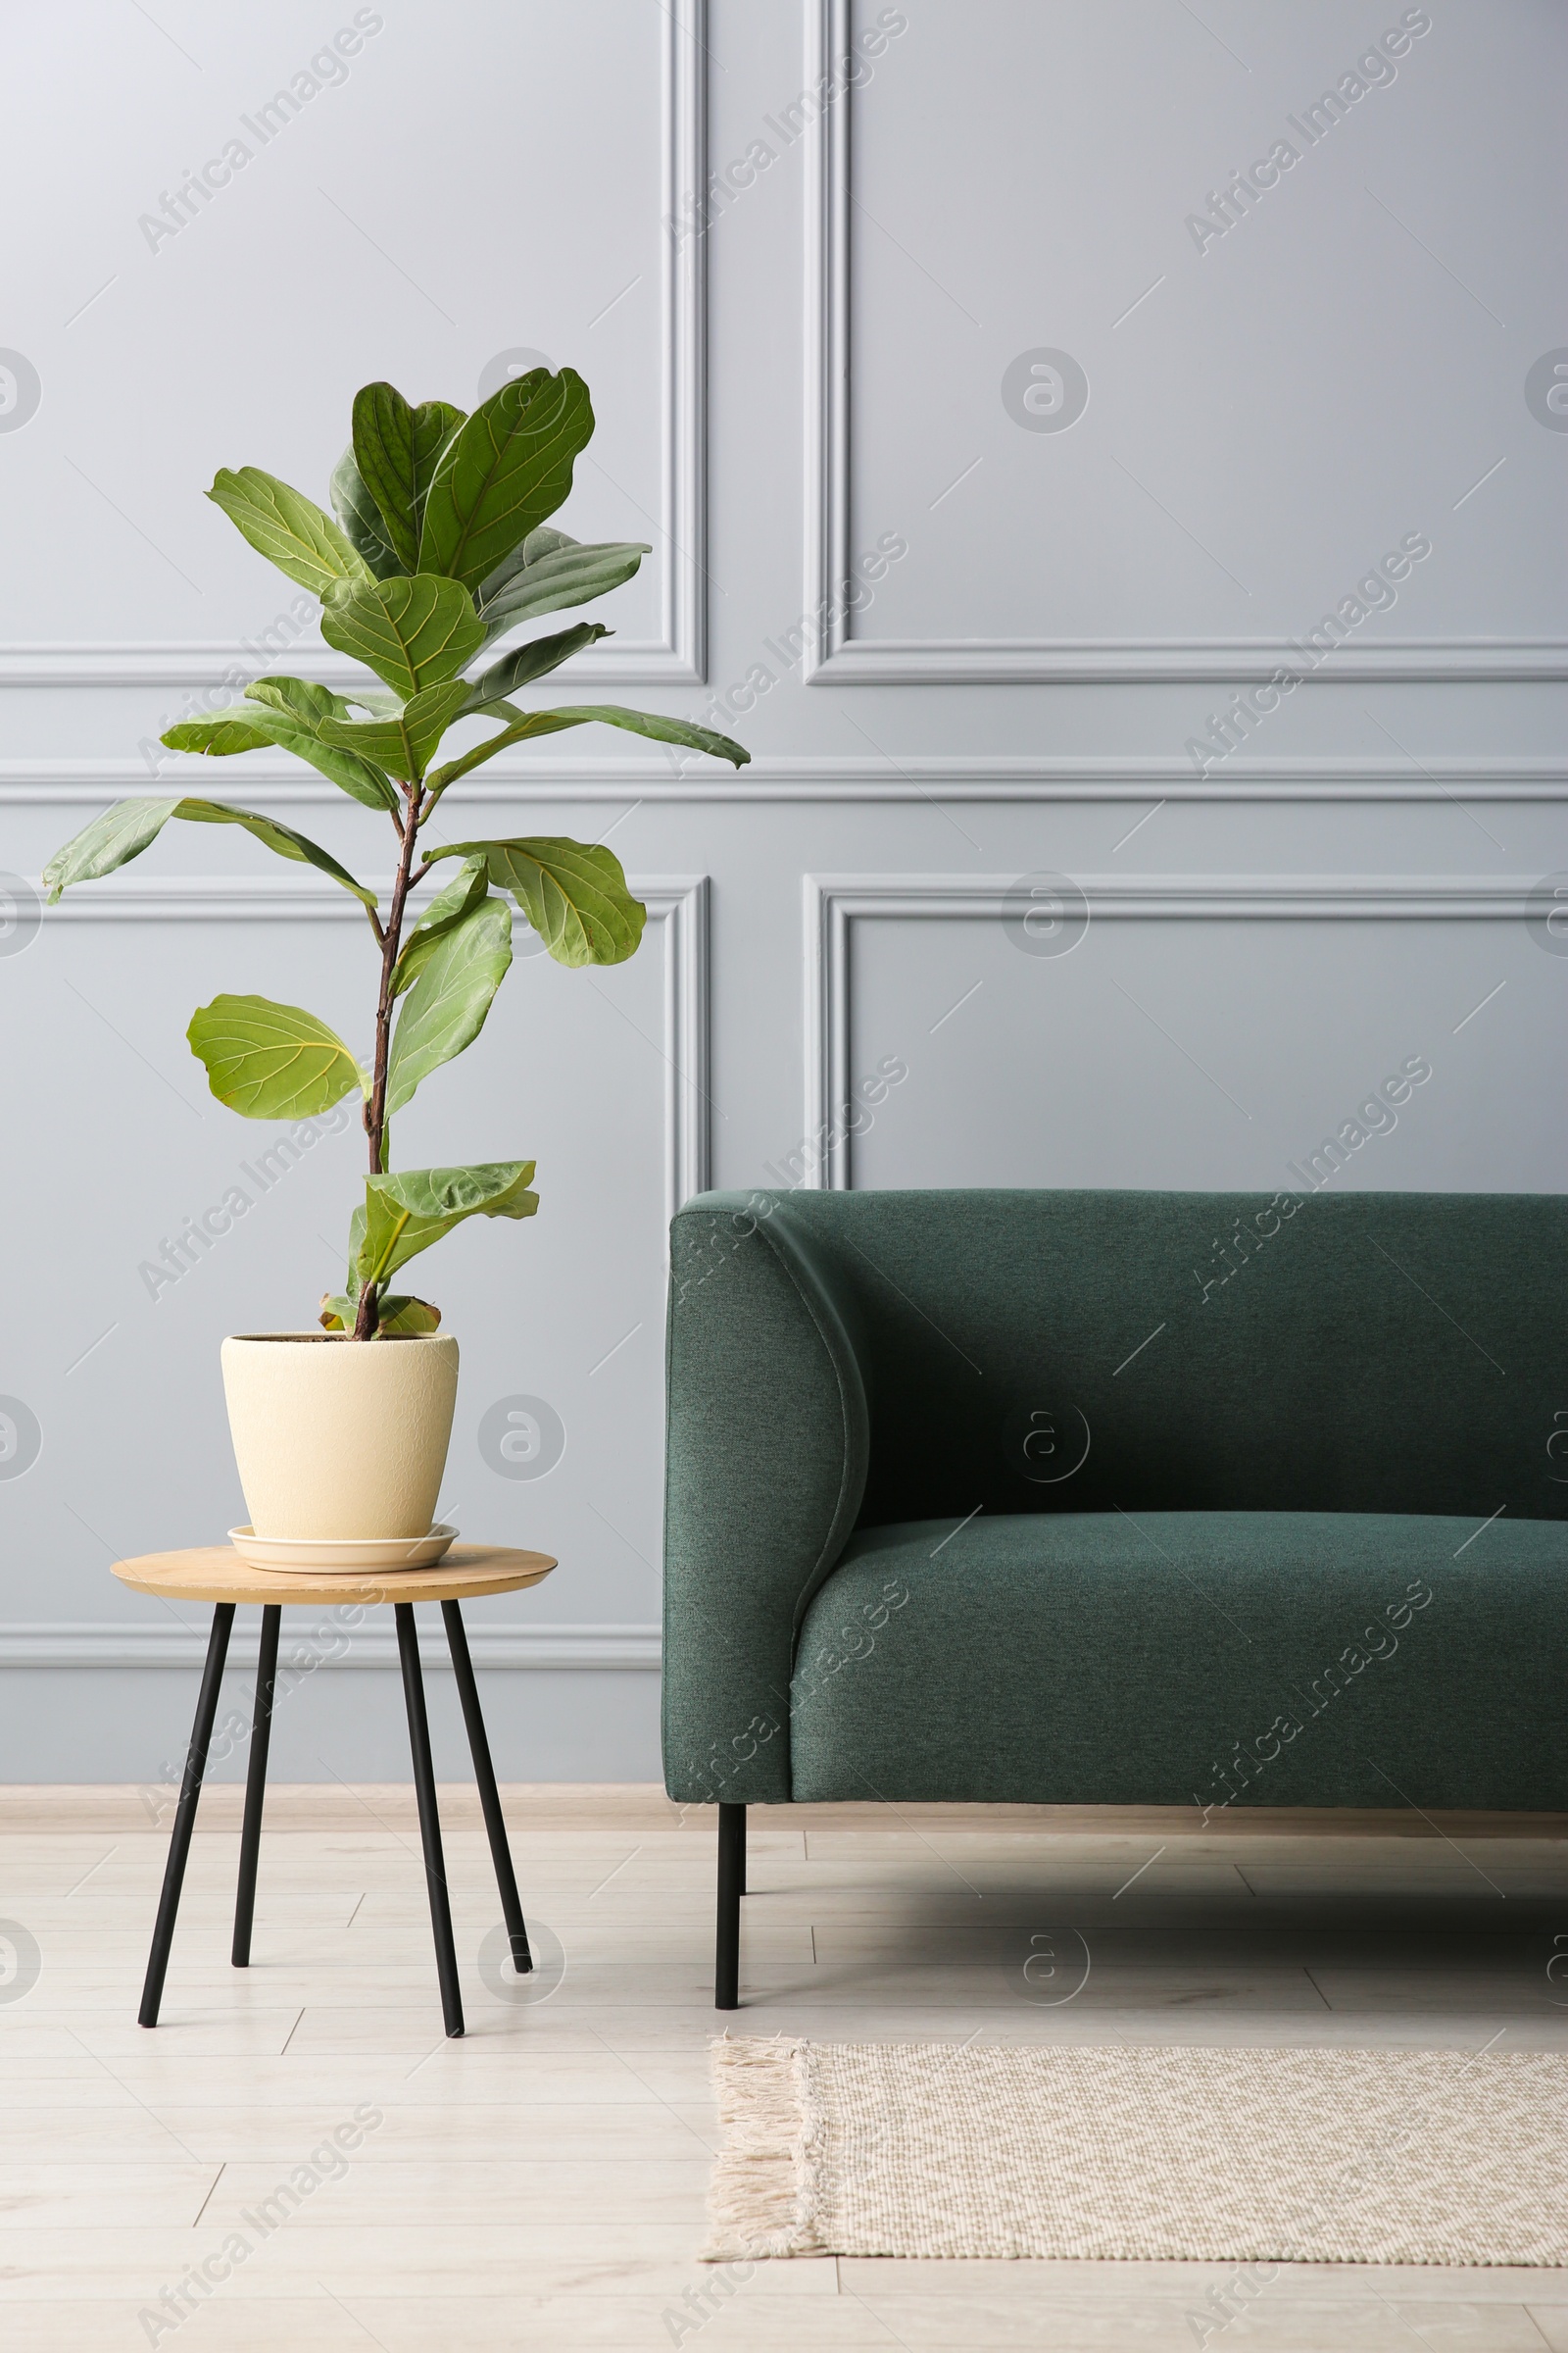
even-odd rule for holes
{"type": "MultiPolygon", "coordinates": [[[[851,35],[851,0],[809,0],[806,85],[832,73],[851,35]]],[[[1251,71],[1251,68],[1248,68],[1251,71]]],[[[1309,664],[1288,638],[884,638],[856,640],[835,602],[851,569],[853,87],[806,141],[806,609],[827,626],[806,652],[811,685],[1241,685],[1309,664]]],[[[1312,624],[1305,624],[1312,626],[1312,624]]],[[[1342,645],[1305,685],[1363,680],[1568,680],[1563,638],[1382,638],[1342,645]]]]}

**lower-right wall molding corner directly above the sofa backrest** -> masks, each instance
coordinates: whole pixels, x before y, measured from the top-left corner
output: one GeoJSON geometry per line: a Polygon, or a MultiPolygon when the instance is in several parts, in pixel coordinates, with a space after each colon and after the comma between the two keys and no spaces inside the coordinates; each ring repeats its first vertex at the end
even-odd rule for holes
{"type": "MultiPolygon", "coordinates": [[[[849,1191],[835,1122],[851,1073],[851,925],[1001,922],[1018,875],[804,875],[804,1134],[827,1139],[813,1191],[849,1191]]],[[[1091,922],[1523,922],[1537,875],[1070,875],[1091,922]]]]}

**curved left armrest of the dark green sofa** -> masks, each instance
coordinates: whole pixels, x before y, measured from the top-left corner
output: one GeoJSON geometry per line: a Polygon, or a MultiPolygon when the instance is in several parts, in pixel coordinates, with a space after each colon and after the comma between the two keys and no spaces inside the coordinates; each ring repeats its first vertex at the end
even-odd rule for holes
{"type": "Polygon", "coordinates": [[[806,1602],[865,1492],[853,1304],[778,1195],[701,1193],[670,1228],[665,1788],[790,1795],[806,1602]]]}

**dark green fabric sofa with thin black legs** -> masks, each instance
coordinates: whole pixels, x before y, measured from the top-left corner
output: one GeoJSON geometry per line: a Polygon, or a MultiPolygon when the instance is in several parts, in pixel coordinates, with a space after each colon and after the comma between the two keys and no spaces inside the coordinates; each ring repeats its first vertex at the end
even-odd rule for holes
{"type": "Polygon", "coordinates": [[[1568,1202],[703,1193],[665,1786],[1568,1807],[1568,1202]]]}

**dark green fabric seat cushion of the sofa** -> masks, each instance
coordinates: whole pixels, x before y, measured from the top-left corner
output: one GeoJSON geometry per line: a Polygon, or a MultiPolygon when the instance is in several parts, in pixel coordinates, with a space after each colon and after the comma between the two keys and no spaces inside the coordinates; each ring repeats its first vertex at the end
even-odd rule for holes
{"type": "Polygon", "coordinates": [[[1563,1809],[1568,1525],[863,1527],[802,1619],[790,1784],[797,1800],[1563,1809]]]}

